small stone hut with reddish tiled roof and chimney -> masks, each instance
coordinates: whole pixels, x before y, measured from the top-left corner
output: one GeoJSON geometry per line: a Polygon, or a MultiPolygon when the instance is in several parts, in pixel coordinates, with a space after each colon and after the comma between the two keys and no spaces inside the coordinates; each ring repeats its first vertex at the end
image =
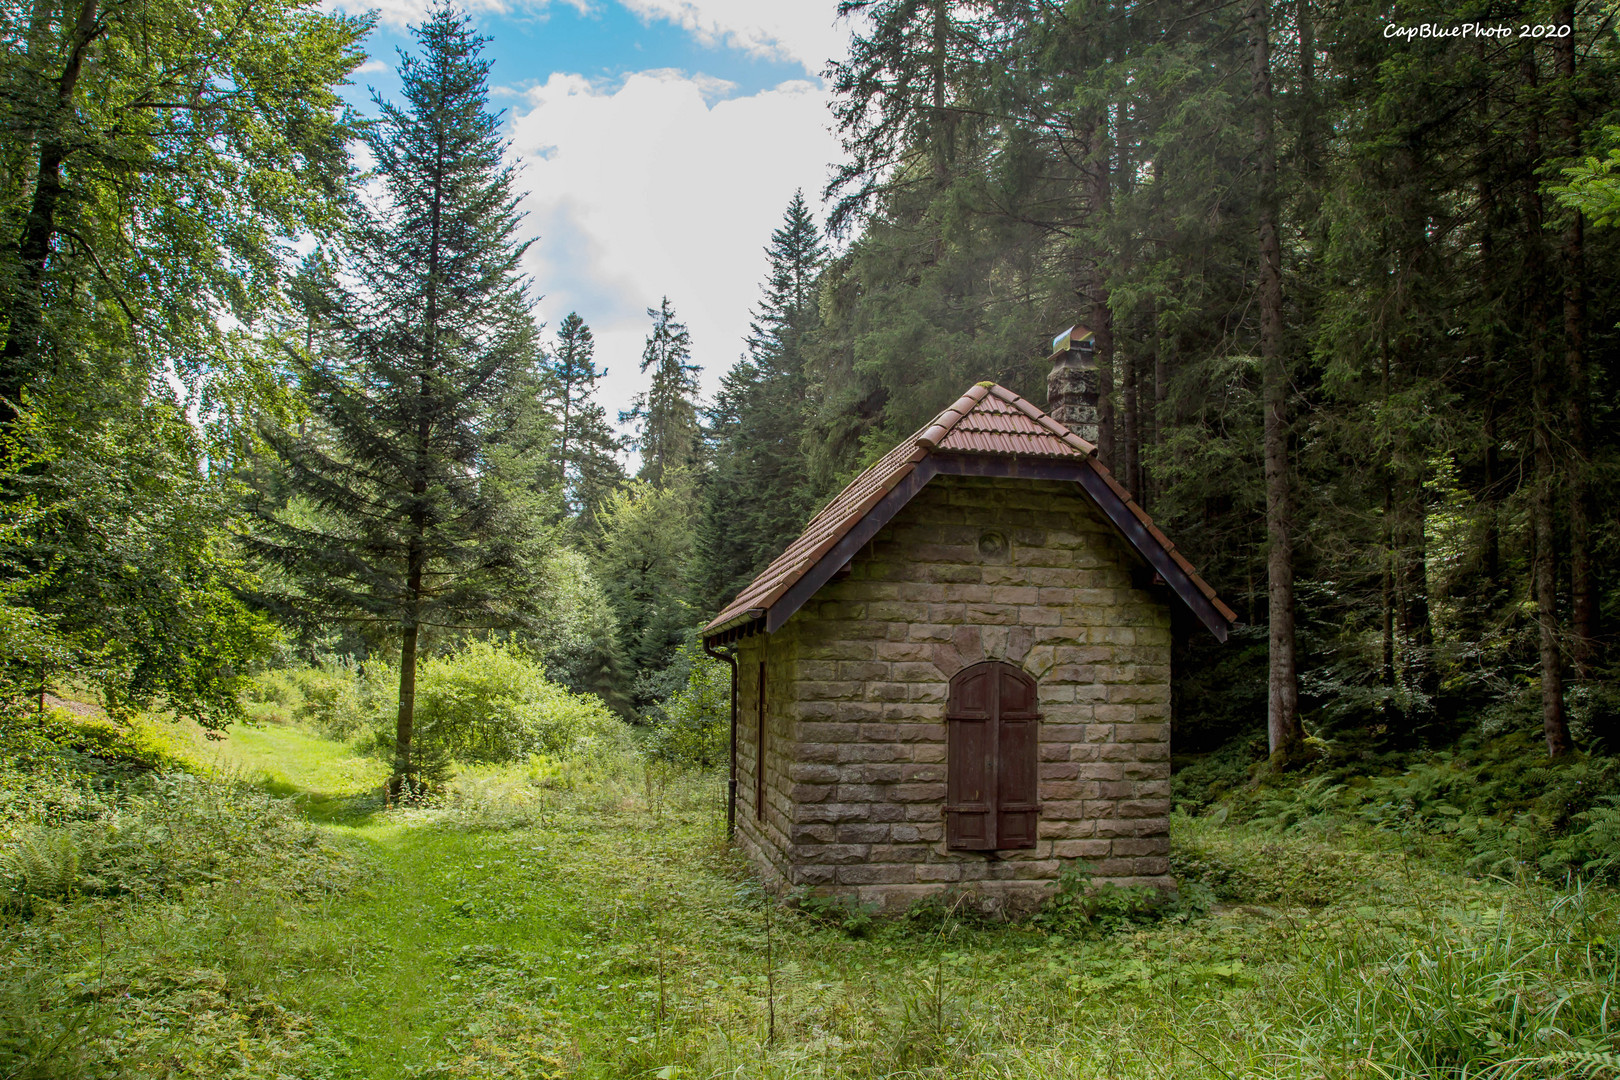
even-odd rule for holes
{"type": "MultiPolygon", "coordinates": [[[[1084,348],[1048,402],[1095,437],[1084,348]]],[[[1170,886],[1171,607],[1220,602],[1092,442],[978,384],[705,630],[735,839],[774,887],[1029,904],[1064,860],[1170,886]]]]}

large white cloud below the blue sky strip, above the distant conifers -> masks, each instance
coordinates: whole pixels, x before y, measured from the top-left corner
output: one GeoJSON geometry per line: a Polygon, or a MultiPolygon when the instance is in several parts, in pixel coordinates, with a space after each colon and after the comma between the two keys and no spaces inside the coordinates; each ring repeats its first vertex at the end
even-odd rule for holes
{"type": "Polygon", "coordinates": [[[713,104],[710,83],[643,71],[603,86],[557,73],[514,108],[525,232],[539,236],[526,269],[546,293],[548,334],[569,311],[591,324],[609,411],[642,387],[645,308],[663,295],[713,393],[742,351],[771,230],[795,188],[815,204],[839,152],[818,83],[713,104]]]}

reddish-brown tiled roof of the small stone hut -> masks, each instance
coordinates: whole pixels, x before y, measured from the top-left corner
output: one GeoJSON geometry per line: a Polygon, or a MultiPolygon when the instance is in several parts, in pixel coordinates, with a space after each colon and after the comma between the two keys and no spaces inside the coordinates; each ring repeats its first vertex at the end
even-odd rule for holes
{"type": "MultiPolygon", "coordinates": [[[[951,408],[935,416],[917,434],[883,455],[865,473],[850,481],[833,502],[826,504],[805,531],[760,572],[748,588],[737,594],[705,628],[714,635],[739,623],[763,617],[805,573],[815,567],[867,513],[899,486],[930,453],[1068,460],[1092,468],[1108,491],[1118,495],[1176,567],[1184,570],[1197,589],[1228,620],[1236,614],[1220,602],[1212,589],[1174,544],[1153,526],[1131,494],[1097,461],[1097,447],[1051,419],[1011,390],[980,382],[951,408]]],[[[1106,499],[1108,492],[1103,492],[1106,499]]],[[[1173,572],[1171,572],[1173,573],[1173,572]]]]}

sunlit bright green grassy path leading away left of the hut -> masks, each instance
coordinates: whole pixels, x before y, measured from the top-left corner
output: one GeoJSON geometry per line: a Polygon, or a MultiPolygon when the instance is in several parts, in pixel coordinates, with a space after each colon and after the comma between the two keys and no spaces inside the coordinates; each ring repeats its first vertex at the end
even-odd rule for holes
{"type": "Polygon", "coordinates": [[[544,844],[381,813],[386,766],[296,729],[238,729],[220,753],[364,865],[355,892],[298,926],[321,963],[280,988],[321,1017],[337,1075],[458,1072],[478,1057],[496,968],[548,968],[575,941],[544,844]]]}

